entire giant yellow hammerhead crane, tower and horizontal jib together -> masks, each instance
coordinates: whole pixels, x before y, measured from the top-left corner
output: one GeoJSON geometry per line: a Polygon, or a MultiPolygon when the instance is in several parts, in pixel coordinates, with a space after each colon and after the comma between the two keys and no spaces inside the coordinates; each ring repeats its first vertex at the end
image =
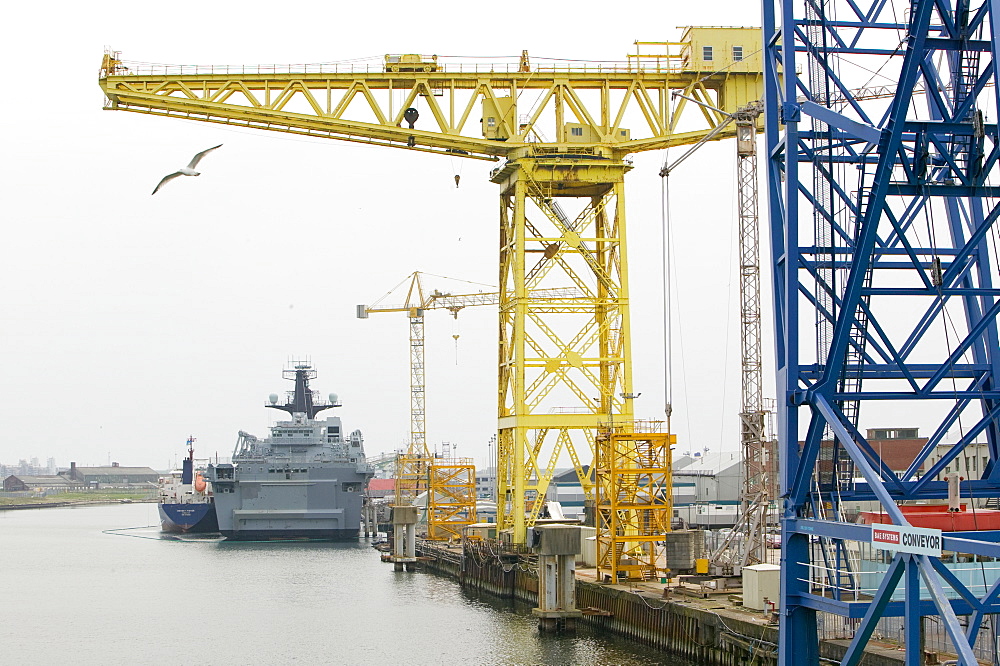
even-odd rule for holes
{"type": "Polygon", "coordinates": [[[541,65],[161,66],[110,52],[100,83],[113,110],[500,161],[498,521],[525,543],[557,462],[593,499],[598,428],[633,419],[628,156],[732,136],[725,114],[761,97],[760,43],[758,28],[690,27],[626,61],[541,65]],[[567,287],[583,296],[539,295],[567,287]]]}

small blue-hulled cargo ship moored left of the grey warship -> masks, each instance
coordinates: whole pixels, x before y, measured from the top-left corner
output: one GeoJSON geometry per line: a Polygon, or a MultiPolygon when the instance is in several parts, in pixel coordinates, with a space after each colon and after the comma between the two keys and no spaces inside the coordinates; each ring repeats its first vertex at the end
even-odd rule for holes
{"type": "Polygon", "coordinates": [[[160,529],[164,532],[218,532],[212,490],[201,470],[195,469],[194,437],[188,437],[188,456],[181,469],[161,476],[158,485],[160,529]]]}

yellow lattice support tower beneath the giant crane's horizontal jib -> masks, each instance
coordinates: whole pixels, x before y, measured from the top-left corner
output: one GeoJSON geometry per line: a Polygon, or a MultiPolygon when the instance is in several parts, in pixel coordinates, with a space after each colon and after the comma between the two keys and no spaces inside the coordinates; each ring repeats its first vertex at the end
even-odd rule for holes
{"type": "Polygon", "coordinates": [[[631,419],[624,175],[609,160],[522,159],[501,185],[498,522],[534,524],[560,460],[593,499],[594,434],[631,419]],[[558,287],[579,296],[546,297],[558,287]]]}

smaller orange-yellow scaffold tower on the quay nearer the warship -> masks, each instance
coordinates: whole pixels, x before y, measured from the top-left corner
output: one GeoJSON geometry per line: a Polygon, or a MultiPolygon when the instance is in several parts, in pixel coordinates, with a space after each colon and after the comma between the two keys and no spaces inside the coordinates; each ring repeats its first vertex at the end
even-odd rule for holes
{"type": "Polygon", "coordinates": [[[476,466],[471,458],[435,459],[429,473],[427,538],[457,540],[476,522],[476,466]]]}

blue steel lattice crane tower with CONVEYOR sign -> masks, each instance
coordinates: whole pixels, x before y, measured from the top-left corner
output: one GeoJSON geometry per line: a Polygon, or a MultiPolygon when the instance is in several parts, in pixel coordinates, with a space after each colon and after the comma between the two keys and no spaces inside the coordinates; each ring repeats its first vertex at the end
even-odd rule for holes
{"type": "MultiPolygon", "coordinates": [[[[900,504],[947,497],[942,473],[970,445],[988,460],[961,496],[1000,496],[998,10],[763,2],[782,665],[818,663],[818,612],[856,623],[843,663],[886,617],[904,619],[906,663],[920,663],[921,618],[936,616],[974,664],[1000,613],[1000,582],[963,584],[917,547],[888,549],[877,589],[861,589],[851,553],[873,529],[845,515],[878,501],[906,531],[900,504]],[[888,418],[928,429],[905,470],[865,437],[888,418]]],[[[1000,557],[1000,533],[946,531],[938,546],[1000,557]]]]}

